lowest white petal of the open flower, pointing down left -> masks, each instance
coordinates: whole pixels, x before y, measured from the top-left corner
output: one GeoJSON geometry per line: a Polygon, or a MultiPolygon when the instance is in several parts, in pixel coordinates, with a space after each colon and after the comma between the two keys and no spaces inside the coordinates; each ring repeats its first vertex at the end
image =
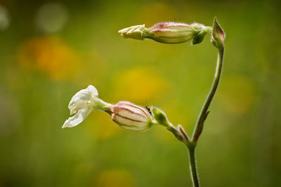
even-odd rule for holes
{"type": "Polygon", "coordinates": [[[89,114],[91,113],[92,109],[91,108],[86,108],[86,109],[81,109],[76,113],[74,116],[68,118],[65,120],[65,123],[63,124],[62,128],[65,127],[74,127],[81,123],[89,114]]]}

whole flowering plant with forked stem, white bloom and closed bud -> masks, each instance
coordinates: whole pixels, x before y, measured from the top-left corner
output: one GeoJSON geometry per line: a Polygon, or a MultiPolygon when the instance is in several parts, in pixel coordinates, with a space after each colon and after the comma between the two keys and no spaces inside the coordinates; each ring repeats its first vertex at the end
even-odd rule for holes
{"type": "Polygon", "coordinates": [[[199,23],[188,25],[181,22],[160,22],[150,28],[145,28],[145,25],[128,27],[120,30],[119,34],[124,36],[124,38],[138,40],[152,39],[161,43],[183,43],[192,40],[192,44],[201,43],[204,36],[211,34],[211,43],[218,49],[216,72],[211,90],[197,118],[192,136],[189,137],[181,125],[175,127],[168,120],[164,111],[154,106],[152,106],[151,109],[148,107],[145,109],[131,102],[123,101],[117,104],[104,102],[102,99],[98,98],[98,90],[96,90],[93,85],[89,85],[88,88],[80,90],[72,97],[68,108],[70,109],[70,115],[74,114],[74,116],[65,120],[63,128],[79,125],[79,123],[85,120],[91,111],[94,110],[109,113],[112,121],[126,130],[143,131],[148,130],[152,125],[163,125],[174,134],[176,139],[183,142],[188,148],[192,183],[193,186],[200,186],[197,174],[195,148],[202,133],[204,122],[209,114],[209,106],[221,79],[224,55],[223,41],[226,38],[223,29],[218,25],[218,21],[215,18],[213,27],[207,27],[199,23]]]}

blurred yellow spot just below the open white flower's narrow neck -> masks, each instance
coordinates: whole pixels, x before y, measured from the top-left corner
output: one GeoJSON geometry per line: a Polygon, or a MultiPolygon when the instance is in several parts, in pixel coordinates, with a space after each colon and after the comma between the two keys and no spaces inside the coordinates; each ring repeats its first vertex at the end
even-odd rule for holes
{"type": "Polygon", "coordinates": [[[115,137],[122,129],[110,120],[110,115],[94,111],[85,120],[85,130],[95,139],[110,139],[115,137]]]}

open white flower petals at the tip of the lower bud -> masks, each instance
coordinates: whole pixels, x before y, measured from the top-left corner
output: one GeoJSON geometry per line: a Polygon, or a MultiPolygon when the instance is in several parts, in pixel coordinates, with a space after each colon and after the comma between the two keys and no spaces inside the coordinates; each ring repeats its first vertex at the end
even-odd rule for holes
{"type": "Polygon", "coordinates": [[[94,109],[103,109],[106,103],[98,98],[98,90],[93,85],[89,85],[88,88],[80,90],[71,99],[68,109],[70,109],[70,115],[74,116],[65,120],[63,128],[74,127],[81,123],[94,109]]]}

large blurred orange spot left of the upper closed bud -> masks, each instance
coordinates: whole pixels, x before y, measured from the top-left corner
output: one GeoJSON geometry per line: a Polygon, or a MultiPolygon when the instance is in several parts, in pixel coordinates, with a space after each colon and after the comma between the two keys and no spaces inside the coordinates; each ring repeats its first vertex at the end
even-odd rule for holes
{"type": "Polygon", "coordinates": [[[55,80],[73,77],[80,64],[74,50],[55,36],[25,41],[18,48],[17,60],[25,69],[42,72],[55,80]]]}

